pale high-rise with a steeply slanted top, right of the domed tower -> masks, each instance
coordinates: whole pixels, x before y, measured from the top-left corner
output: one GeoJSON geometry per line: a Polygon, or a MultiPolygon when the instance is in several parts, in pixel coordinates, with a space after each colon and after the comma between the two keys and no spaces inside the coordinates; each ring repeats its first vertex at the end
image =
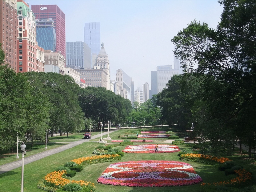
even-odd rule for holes
{"type": "Polygon", "coordinates": [[[122,69],[116,71],[116,81],[127,91],[127,99],[132,102],[132,78],[122,69]]]}

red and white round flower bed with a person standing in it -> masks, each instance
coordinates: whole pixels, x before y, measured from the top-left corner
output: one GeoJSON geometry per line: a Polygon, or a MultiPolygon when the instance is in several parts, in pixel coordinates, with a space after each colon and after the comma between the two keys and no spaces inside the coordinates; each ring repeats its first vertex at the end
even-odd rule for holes
{"type": "Polygon", "coordinates": [[[179,147],[175,145],[158,145],[158,152],[155,152],[154,144],[150,145],[129,145],[123,152],[126,153],[173,153],[179,152],[179,147]]]}

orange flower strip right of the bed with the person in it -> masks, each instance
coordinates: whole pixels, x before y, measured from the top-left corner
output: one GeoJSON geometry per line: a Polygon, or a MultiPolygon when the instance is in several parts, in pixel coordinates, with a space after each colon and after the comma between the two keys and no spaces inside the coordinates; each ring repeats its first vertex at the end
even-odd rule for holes
{"type": "Polygon", "coordinates": [[[215,157],[211,155],[194,154],[194,153],[181,154],[180,158],[181,160],[185,160],[185,161],[197,161],[197,160],[203,159],[208,161],[216,161],[218,163],[225,163],[226,161],[231,161],[231,159],[225,158],[225,157],[215,157]]]}

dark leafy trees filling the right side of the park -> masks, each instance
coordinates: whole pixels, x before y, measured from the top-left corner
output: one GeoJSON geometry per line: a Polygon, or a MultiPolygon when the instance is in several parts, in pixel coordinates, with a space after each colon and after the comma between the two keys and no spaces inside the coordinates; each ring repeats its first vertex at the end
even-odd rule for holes
{"type": "Polygon", "coordinates": [[[256,2],[220,0],[217,29],[194,20],[171,40],[184,75],[157,95],[170,124],[191,127],[212,147],[234,148],[235,139],[255,148],[256,2]]]}

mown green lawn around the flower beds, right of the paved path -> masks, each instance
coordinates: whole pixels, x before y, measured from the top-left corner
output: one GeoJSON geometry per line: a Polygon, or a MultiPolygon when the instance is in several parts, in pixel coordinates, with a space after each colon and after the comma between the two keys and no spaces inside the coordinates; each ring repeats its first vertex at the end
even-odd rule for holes
{"type": "MultiPolygon", "coordinates": [[[[146,129],[145,129],[146,130],[146,129]]],[[[129,131],[129,129],[122,129],[115,131],[110,134],[113,139],[118,139],[120,134],[124,134],[129,131]]],[[[97,139],[98,140],[98,139],[97,139]]],[[[92,156],[92,151],[97,147],[96,142],[85,142],[76,147],[68,149],[66,151],[45,157],[33,163],[24,166],[24,191],[25,192],[44,192],[37,188],[37,183],[41,180],[47,173],[52,172],[58,166],[65,164],[79,157],[92,156]]],[[[125,146],[116,147],[123,150],[125,146]]],[[[184,148],[189,148],[188,146],[179,146],[180,150],[184,148]]],[[[256,174],[256,166],[244,163],[243,157],[231,156],[231,159],[236,162],[243,163],[244,168],[250,170],[256,174]]],[[[158,154],[139,154],[139,153],[125,153],[121,161],[139,161],[139,160],[170,160],[170,161],[181,161],[177,153],[158,153],[158,154]]],[[[185,161],[186,162],[186,161],[185,161]]],[[[112,186],[97,183],[97,179],[101,176],[102,172],[113,162],[100,163],[89,165],[83,169],[82,172],[77,173],[74,180],[85,180],[90,181],[95,184],[97,192],[162,192],[162,191],[189,191],[198,192],[200,190],[200,184],[189,185],[189,186],[179,186],[179,187],[123,187],[123,186],[112,186]]],[[[198,163],[198,162],[186,162],[193,166],[197,174],[203,179],[203,182],[218,182],[225,181],[232,177],[225,176],[224,172],[218,171],[218,169],[212,165],[198,163]]],[[[18,192],[20,191],[21,184],[21,167],[14,169],[12,171],[6,172],[0,175],[0,191],[1,192],[18,192]]]]}

